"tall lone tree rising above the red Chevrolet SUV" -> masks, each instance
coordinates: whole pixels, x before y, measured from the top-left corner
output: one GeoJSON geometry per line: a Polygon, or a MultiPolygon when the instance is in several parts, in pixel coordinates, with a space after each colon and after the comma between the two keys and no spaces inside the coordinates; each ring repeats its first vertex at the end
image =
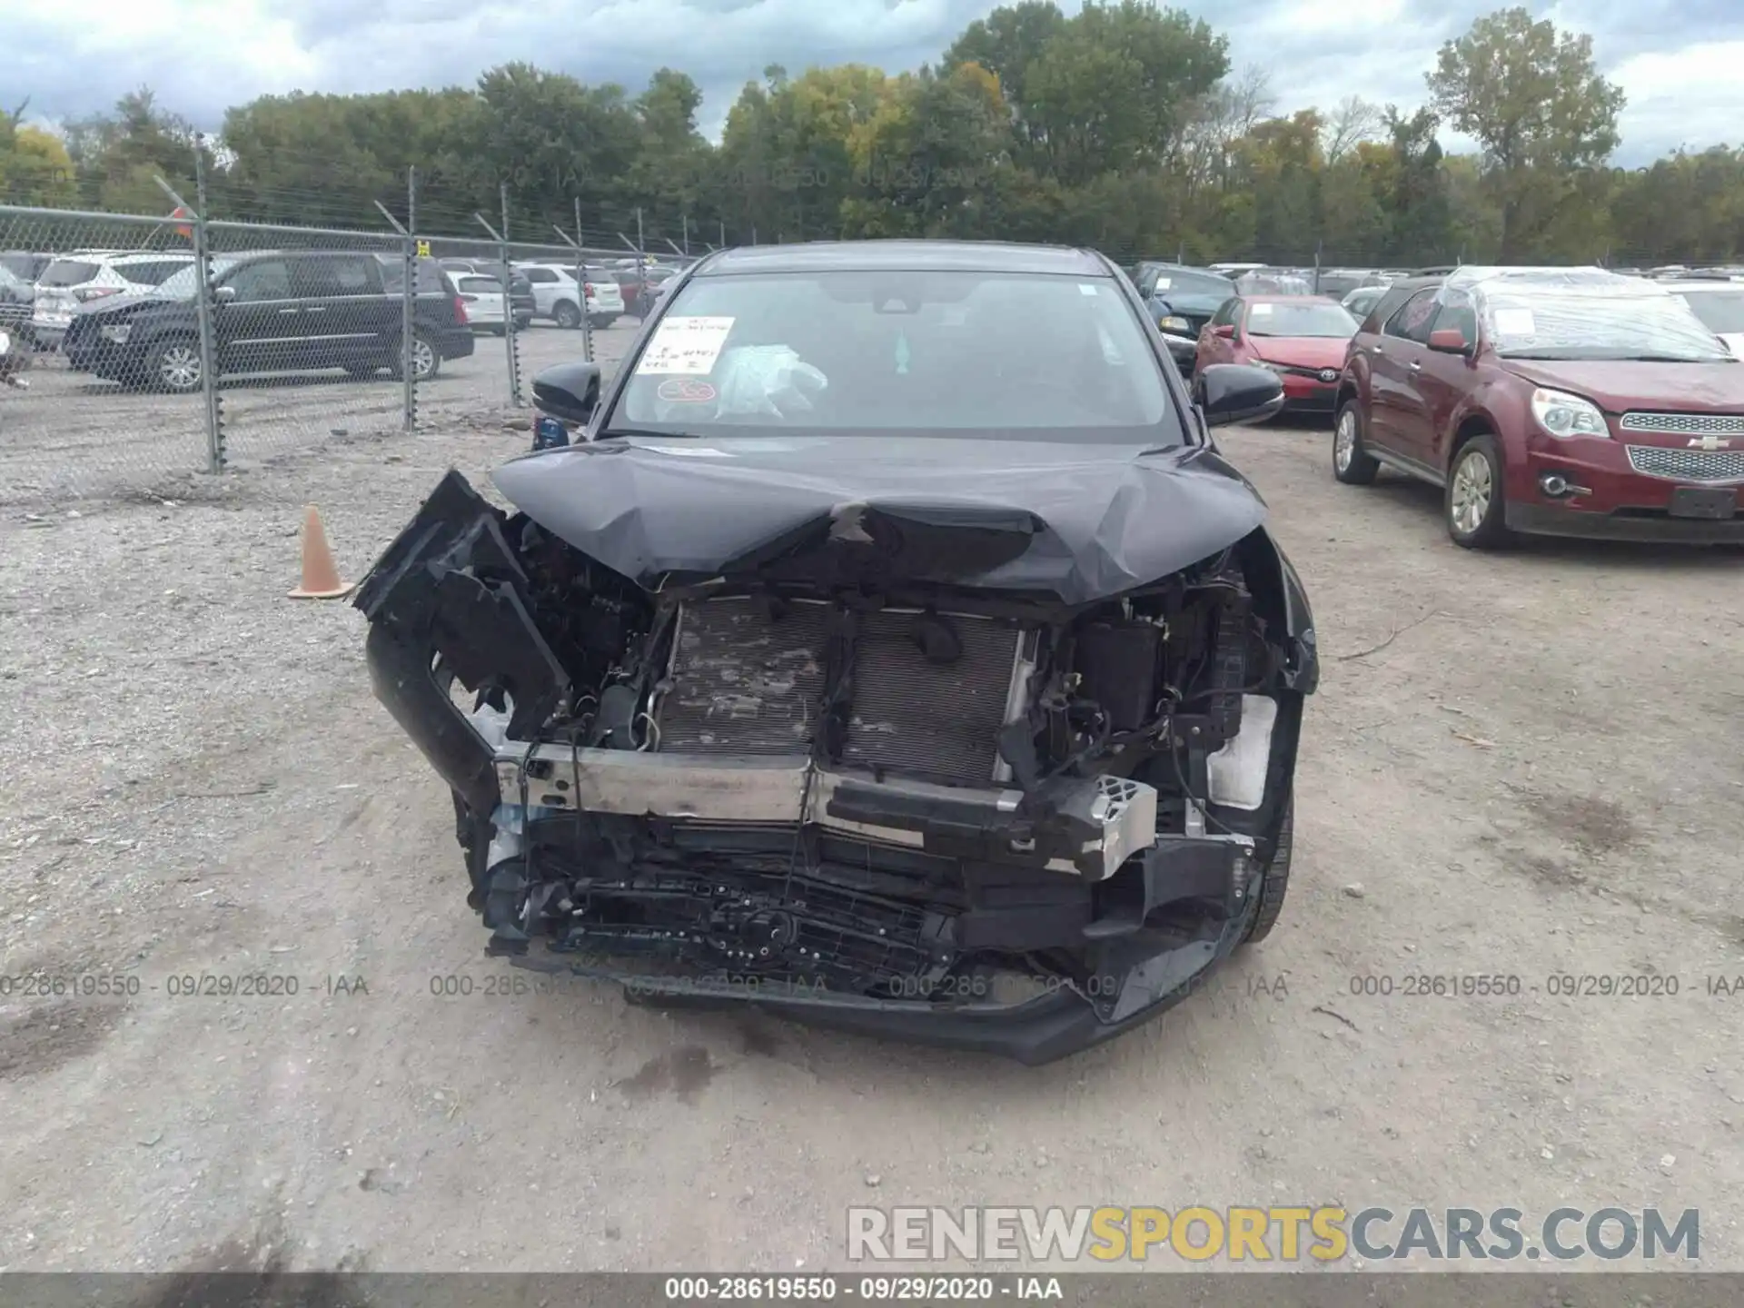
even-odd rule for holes
{"type": "Polygon", "coordinates": [[[1502,9],[1441,47],[1427,75],[1435,110],[1484,146],[1502,215],[1503,263],[1542,255],[1559,221],[1591,204],[1591,174],[1617,148],[1624,92],[1592,63],[1592,37],[1502,9]]]}

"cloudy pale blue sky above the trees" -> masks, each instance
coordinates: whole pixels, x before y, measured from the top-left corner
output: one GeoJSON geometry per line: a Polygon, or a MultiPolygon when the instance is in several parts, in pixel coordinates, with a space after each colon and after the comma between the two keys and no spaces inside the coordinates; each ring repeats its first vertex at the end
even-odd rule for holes
{"type": "MultiPolygon", "coordinates": [[[[1266,65],[1277,108],[1348,94],[1413,106],[1435,49],[1502,0],[1175,0],[1266,65]]],[[[1062,0],[1074,10],[1078,0],[1062,0]]],[[[1744,143],[1744,3],[1556,0],[1529,3],[1591,31],[1601,70],[1629,96],[1618,162],[1678,145],[1744,143]]],[[[991,0],[56,0],[0,24],[0,96],[31,119],[103,110],[148,84],[216,127],[228,105],[283,91],[471,85],[528,59],[582,80],[640,87],[661,65],[701,84],[705,129],[769,63],[860,61],[886,70],[935,58],[991,0]]],[[[1458,145],[1458,141],[1449,141],[1458,145]]]]}

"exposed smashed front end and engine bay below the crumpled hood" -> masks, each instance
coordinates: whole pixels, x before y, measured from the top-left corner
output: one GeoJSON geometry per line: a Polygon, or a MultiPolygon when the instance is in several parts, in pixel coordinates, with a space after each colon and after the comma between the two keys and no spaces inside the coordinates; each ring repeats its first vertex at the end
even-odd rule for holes
{"type": "Polygon", "coordinates": [[[1243,539],[1081,605],[855,569],[649,591],[450,474],[358,605],[492,952],[942,1001],[1249,912],[1301,703],[1277,589],[1243,539]]]}

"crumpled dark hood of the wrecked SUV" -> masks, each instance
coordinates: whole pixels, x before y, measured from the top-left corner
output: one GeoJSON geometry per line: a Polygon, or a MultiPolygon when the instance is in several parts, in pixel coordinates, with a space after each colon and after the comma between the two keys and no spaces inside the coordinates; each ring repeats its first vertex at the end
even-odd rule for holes
{"type": "Polygon", "coordinates": [[[645,589],[769,567],[1043,593],[1179,572],[1266,518],[1202,446],[963,438],[610,439],[494,474],[528,518],[645,589]]]}

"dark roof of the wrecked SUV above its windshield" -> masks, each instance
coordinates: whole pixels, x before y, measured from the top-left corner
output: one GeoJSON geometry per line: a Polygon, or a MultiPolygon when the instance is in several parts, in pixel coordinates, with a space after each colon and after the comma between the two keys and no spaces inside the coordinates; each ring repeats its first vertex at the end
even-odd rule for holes
{"type": "Polygon", "coordinates": [[[741,246],[712,255],[696,270],[696,276],[825,270],[1114,276],[1113,267],[1088,249],[1010,241],[809,241],[792,246],[741,246]]]}

